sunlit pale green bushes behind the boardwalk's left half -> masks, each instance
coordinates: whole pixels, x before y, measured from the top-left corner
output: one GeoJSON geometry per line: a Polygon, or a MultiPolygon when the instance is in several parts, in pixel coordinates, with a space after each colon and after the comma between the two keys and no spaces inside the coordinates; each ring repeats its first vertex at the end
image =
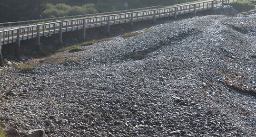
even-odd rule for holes
{"type": "Polygon", "coordinates": [[[98,10],[95,9],[94,4],[85,4],[83,6],[69,6],[64,3],[56,5],[48,3],[45,6],[45,10],[42,12],[42,16],[44,18],[55,18],[93,13],[98,13],[98,10]]]}

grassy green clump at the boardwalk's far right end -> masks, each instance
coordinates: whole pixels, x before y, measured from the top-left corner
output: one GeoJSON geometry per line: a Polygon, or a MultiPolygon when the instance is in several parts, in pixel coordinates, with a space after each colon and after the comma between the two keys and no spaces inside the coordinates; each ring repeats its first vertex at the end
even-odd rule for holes
{"type": "Polygon", "coordinates": [[[243,12],[255,8],[255,5],[250,0],[239,0],[230,3],[236,10],[243,12]]]}

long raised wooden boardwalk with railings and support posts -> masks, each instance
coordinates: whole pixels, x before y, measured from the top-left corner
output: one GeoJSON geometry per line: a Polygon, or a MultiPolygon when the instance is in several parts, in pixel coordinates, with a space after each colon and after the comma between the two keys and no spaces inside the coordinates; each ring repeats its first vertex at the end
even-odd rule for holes
{"type": "Polygon", "coordinates": [[[64,32],[83,30],[83,38],[86,39],[86,29],[106,26],[110,33],[110,26],[117,24],[153,20],[157,18],[174,17],[178,15],[193,13],[198,11],[214,9],[218,7],[213,0],[200,1],[191,4],[180,5],[176,7],[151,9],[145,11],[127,12],[90,18],[79,18],[51,23],[37,24],[26,27],[16,27],[0,31],[0,65],[2,66],[2,46],[16,43],[16,57],[20,59],[20,41],[36,38],[38,40],[37,48],[40,46],[40,37],[59,34],[59,42],[62,43],[62,34],[64,32]]]}

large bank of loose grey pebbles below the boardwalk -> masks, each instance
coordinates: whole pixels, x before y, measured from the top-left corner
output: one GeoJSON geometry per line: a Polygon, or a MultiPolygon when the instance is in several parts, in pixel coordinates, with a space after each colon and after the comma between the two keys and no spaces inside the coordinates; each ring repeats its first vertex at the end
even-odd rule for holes
{"type": "Polygon", "coordinates": [[[256,14],[83,48],[1,71],[0,124],[49,137],[256,137],[256,14]],[[59,56],[77,61],[49,63],[59,56]]]}

